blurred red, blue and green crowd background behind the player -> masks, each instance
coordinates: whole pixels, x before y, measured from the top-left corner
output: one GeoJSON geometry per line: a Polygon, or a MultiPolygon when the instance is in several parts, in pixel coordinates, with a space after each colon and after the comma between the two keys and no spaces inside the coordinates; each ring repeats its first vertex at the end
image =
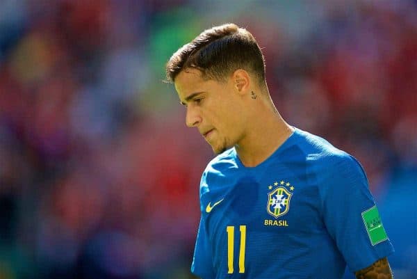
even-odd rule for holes
{"type": "Polygon", "coordinates": [[[417,278],[417,1],[1,0],[1,279],[193,278],[213,154],[164,66],[225,22],[284,118],[361,161],[417,278]]]}

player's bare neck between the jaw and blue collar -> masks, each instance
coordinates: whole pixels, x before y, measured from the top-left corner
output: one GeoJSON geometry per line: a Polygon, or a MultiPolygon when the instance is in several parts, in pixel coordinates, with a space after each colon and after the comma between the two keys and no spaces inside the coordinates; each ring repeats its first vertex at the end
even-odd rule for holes
{"type": "MultiPolygon", "coordinates": [[[[270,104],[267,104],[269,108],[270,104]]],[[[252,117],[253,121],[248,123],[243,138],[235,145],[240,161],[247,167],[258,166],[268,159],[294,131],[293,127],[281,118],[273,104],[272,109],[260,107],[256,115],[252,117]]]]}

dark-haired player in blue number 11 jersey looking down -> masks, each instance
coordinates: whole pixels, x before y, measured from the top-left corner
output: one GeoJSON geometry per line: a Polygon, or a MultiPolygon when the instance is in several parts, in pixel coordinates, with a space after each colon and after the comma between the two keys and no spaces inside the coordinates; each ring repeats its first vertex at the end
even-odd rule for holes
{"type": "Polygon", "coordinates": [[[218,154],[199,189],[195,275],[336,279],[347,265],[357,278],[392,278],[393,246],[363,168],[281,118],[250,32],[208,29],[166,71],[186,125],[218,154]]]}

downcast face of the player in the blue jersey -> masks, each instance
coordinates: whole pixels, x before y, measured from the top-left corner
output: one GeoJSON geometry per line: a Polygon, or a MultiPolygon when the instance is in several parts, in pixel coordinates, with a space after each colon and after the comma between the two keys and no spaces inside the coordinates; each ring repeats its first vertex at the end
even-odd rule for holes
{"type": "Polygon", "coordinates": [[[186,125],[196,127],[216,154],[243,137],[242,104],[234,82],[205,80],[196,69],[183,70],[174,82],[181,104],[186,106],[186,125]]]}

